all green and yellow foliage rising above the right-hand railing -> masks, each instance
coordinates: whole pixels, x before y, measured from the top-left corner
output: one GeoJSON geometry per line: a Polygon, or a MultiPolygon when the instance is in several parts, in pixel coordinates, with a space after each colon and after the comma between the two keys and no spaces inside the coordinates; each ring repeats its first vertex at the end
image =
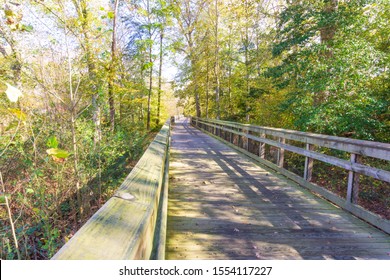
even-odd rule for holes
{"type": "Polygon", "coordinates": [[[188,114],[389,141],[388,1],[176,4],[188,114]]]}

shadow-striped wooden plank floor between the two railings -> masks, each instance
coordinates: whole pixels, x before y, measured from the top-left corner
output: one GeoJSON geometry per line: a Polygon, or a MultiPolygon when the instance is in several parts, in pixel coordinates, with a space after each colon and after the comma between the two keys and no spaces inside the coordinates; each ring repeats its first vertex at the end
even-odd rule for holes
{"type": "Polygon", "coordinates": [[[186,119],[172,134],[167,259],[390,259],[390,236],[186,119]]]}

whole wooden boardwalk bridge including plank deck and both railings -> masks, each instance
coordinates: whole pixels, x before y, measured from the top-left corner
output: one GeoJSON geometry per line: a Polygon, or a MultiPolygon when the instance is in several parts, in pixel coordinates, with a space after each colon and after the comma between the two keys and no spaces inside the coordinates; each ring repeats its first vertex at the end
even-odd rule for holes
{"type": "Polygon", "coordinates": [[[390,181],[359,157],[389,161],[389,144],[198,118],[172,126],[53,259],[390,259],[389,220],[356,205],[357,173],[390,181]],[[305,157],[303,177],[283,168],[285,151],[305,157]],[[348,170],[346,199],[310,182],[313,160],[348,170]]]}

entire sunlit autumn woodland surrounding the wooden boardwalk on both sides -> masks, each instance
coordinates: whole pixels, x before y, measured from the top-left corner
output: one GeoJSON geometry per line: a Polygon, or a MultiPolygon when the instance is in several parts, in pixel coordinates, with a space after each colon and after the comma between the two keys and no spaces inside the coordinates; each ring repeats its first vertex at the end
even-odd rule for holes
{"type": "MultiPolygon", "coordinates": [[[[0,10],[2,259],[50,258],[182,110],[390,142],[388,0],[0,0],[0,10]]],[[[315,179],[342,193],[332,172],[315,179]]],[[[362,199],[389,218],[389,186],[367,185],[362,199]]]]}

